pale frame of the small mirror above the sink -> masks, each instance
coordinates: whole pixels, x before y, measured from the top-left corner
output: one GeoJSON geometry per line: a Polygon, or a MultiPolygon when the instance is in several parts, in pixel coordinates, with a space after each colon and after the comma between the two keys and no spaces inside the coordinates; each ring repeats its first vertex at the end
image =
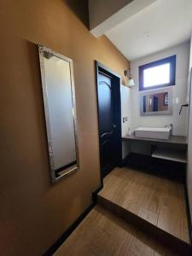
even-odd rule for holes
{"type": "Polygon", "coordinates": [[[141,116],[153,116],[153,115],[172,115],[172,87],[164,88],[164,89],[157,89],[157,90],[148,90],[144,91],[140,94],[140,115],[141,116]],[[158,93],[165,93],[168,92],[168,110],[164,111],[155,111],[155,112],[143,112],[143,96],[149,96],[158,93]]]}

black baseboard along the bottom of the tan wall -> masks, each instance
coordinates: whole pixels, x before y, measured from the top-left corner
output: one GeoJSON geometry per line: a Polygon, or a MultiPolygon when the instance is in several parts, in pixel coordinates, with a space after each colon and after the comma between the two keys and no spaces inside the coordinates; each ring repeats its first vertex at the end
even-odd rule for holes
{"type": "Polygon", "coordinates": [[[96,191],[92,193],[92,199],[93,202],[90,204],[89,207],[75,220],[75,222],[55,241],[55,243],[49,247],[46,253],[43,254],[43,256],[52,256],[55,251],[61,247],[61,244],[67,240],[68,236],[70,236],[73,233],[73,230],[75,230],[79,224],[82,222],[82,220],[87,216],[87,214],[93,209],[93,207],[96,206],[96,195],[99,193],[99,191],[103,188],[103,185],[101,184],[96,191]]]}

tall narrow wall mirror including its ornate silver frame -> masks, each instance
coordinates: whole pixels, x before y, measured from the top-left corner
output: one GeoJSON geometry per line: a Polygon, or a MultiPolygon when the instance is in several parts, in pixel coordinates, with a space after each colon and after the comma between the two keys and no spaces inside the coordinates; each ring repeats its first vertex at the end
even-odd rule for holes
{"type": "Polygon", "coordinates": [[[52,181],[79,168],[73,61],[38,46],[52,181]]]}

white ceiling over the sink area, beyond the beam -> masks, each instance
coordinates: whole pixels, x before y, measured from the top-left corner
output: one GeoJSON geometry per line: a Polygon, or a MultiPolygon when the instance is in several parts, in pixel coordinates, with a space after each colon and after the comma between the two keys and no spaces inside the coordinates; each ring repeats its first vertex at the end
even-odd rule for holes
{"type": "Polygon", "coordinates": [[[105,35],[133,61],[189,40],[192,0],[157,0],[105,35]]]}

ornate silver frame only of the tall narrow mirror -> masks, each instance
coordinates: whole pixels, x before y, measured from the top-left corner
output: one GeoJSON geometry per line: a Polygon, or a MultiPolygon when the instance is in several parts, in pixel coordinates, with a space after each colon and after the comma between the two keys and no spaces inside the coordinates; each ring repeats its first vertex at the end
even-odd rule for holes
{"type": "MultiPolygon", "coordinates": [[[[61,55],[61,54],[55,52],[52,49],[45,47],[44,45],[40,45],[40,44],[38,44],[38,55],[39,55],[39,62],[40,62],[42,90],[43,90],[43,99],[44,99],[44,115],[45,115],[47,143],[48,143],[48,151],[49,151],[49,167],[50,167],[52,182],[56,183],[59,180],[61,180],[62,177],[67,177],[67,176],[73,174],[74,172],[77,172],[80,169],[75,88],[74,88],[74,78],[73,78],[73,60],[67,58],[64,55],[61,55]],[[73,102],[73,125],[74,125],[74,137],[75,137],[75,150],[76,150],[77,164],[75,166],[70,166],[67,169],[63,169],[63,171],[65,171],[65,172],[63,174],[61,174],[60,177],[55,176],[54,152],[53,152],[53,147],[52,147],[50,122],[49,122],[48,90],[47,90],[47,84],[46,84],[46,79],[45,79],[45,70],[44,70],[44,52],[46,52],[50,55],[54,55],[55,57],[58,57],[63,61],[67,61],[69,63],[69,67],[70,67],[71,91],[72,91],[72,102],[73,102]]],[[[61,172],[63,172],[63,171],[61,171],[61,172]]]]}

